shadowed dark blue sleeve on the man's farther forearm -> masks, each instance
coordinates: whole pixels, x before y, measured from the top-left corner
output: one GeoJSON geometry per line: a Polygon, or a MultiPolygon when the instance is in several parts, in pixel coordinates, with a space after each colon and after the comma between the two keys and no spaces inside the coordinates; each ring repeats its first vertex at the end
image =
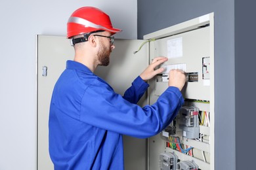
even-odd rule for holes
{"type": "Polygon", "coordinates": [[[140,76],[137,76],[131,87],[125,91],[123,99],[126,99],[127,101],[134,104],[138,103],[142,95],[146,92],[148,86],[148,83],[144,82],[140,76]]]}

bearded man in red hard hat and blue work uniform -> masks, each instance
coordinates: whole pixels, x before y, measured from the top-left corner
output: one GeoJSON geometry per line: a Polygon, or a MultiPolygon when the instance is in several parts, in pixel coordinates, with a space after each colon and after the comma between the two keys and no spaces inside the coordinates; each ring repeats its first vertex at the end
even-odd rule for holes
{"type": "Polygon", "coordinates": [[[108,65],[115,33],[107,14],[94,7],[75,10],[68,20],[68,38],[75,49],[53,91],[49,116],[49,151],[54,169],[123,169],[122,135],[147,138],[160,133],[177,115],[184,100],[182,71],[169,73],[169,88],[154,105],[136,103],[148,88],[146,80],[167,58],[155,58],[123,97],[93,74],[108,65]]]}

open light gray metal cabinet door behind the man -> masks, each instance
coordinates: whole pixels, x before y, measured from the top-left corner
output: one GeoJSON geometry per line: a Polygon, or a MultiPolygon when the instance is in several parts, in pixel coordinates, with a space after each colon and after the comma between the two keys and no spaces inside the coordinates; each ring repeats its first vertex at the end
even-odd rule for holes
{"type": "MultiPolygon", "coordinates": [[[[95,74],[106,80],[117,93],[131,86],[131,82],[148,66],[148,45],[133,54],[143,41],[116,39],[116,48],[108,67],[98,67],[95,74]]],[[[66,67],[66,60],[74,59],[74,48],[66,37],[37,35],[37,169],[51,170],[49,157],[49,104],[58,76],[66,67]]],[[[139,104],[148,103],[146,95],[139,104]]],[[[125,169],[146,169],[147,141],[124,137],[125,169]]]]}

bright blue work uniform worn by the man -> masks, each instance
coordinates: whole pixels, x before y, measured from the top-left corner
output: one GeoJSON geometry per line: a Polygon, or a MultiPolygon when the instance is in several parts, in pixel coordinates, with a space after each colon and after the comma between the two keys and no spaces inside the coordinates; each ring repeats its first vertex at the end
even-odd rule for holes
{"type": "Polygon", "coordinates": [[[123,137],[160,133],[184,103],[169,87],[154,105],[136,103],[148,88],[138,76],[123,97],[85,65],[67,61],[54,86],[49,152],[54,169],[123,169],[123,137]]]}

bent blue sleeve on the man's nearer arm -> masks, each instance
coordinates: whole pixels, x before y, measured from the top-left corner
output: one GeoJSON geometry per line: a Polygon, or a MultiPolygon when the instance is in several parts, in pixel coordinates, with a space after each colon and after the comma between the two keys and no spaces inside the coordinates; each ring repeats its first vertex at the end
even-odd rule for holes
{"type": "Polygon", "coordinates": [[[153,105],[130,103],[108,84],[98,82],[83,95],[80,120],[91,126],[133,137],[147,138],[160,133],[184,103],[181,92],[169,87],[153,105]]]}

